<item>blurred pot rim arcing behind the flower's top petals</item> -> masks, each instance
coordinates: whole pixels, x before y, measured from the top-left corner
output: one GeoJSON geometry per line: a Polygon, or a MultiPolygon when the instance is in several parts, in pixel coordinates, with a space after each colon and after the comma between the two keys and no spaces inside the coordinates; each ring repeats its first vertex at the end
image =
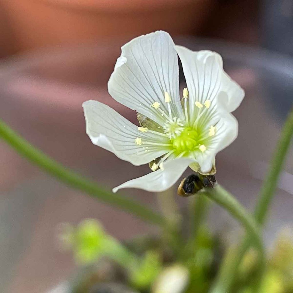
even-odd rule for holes
{"type": "MultiPolygon", "coordinates": [[[[173,40],[175,44],[188,47],[190,50],[193,51],[217,49],[217,52],[221,54],[224,59],[234,61],[238,60],[239,62],[252,66],[253,68],[269,69],[276,74],[281,74],[282,76],[286,76],[290,79],[292,78],[293,58],[280,52],[215,38],[175,36],[173,40]]],[[[45,49],[43,48],[39,50],[32,50],[31,52],[16,53],[0,60],[0,77],[6,75],[7,71],[21,71],[26,69],[27,67],[52,62],[52,59],[56,60],[69,58],[72,55],[84,55],[85,52],[90,54],[91,52],[96,52],[97,50],[99,52],[104,52],[105,50],[112,49],[113,52],[117,53],[115,55],[115,58],[113,59],[114,61],[116,61],[116,58],[120,54],[120,47],[124,43],[125,42],[121,41],[119,38],[115,40],[105,39],[104,41],[99,43],[88,42],[85,44],[76,45],[74,46],[74,48],[72,48],[72,46],[52,46],[45,49]]]]}

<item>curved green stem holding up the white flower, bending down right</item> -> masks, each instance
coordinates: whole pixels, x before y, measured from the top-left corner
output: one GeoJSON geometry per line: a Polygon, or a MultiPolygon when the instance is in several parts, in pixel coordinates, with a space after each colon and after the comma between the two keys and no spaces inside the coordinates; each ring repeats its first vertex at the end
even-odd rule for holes
{"type": "Polygon", "coordinates": [[[246,209],[235,199],[233,195],[231,195],[231,193],[219,184],[214,188],[205,188],[201,193],[226,209],[226,211],[228,211],[246,228],[251,236],[251,239],[253,240],[254,245],[259,250],[260,262],[265,263],[263,241],[260,236],[258,225],[253,217],[246,212],[246,209]]]}

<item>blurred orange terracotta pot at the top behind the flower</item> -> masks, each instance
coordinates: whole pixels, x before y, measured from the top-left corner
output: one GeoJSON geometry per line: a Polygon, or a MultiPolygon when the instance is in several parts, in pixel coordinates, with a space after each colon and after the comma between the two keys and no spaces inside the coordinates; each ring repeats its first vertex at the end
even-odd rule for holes
{"type": "Polygon", "coordinates": [[[18,50],[134,36],[197,31],[214,0],[0,0],[18,50]],[[114,3],[115,2],[115,3],[114,3]]]}

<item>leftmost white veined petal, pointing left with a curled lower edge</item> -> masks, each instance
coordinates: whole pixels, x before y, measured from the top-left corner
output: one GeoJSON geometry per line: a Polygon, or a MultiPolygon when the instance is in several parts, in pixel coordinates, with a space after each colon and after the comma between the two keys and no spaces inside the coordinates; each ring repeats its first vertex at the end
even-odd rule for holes
{"type": "Polygon", "coordinates": [[[83,103],[83,107],[86,133],[93,144],[113,152],[118,158],[134,165],[142,165],[168,152],[166,147],[146,143],[168,144],[167,137],[150,132],[140,132],[136,125],[109,106],[89,100],[83,103]],[[137,137],[144,142],[142,145],[135,144],[137,137]]]}

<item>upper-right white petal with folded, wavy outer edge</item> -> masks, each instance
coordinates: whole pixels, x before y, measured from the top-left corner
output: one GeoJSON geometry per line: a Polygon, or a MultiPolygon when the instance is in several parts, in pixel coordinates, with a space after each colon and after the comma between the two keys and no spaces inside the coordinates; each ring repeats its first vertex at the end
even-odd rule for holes
{"type": "Polygon", "coordinates": [[[243,89],[226,74],[222,57],[212,51],[193,52],[185,47],[176,46],[182,62],[183,71],[190,93],[190,113],[197,109],[194,102],[213,101],[221,92],[227,94],[226,109],[234,111],[244,98],[243,89]]]}

